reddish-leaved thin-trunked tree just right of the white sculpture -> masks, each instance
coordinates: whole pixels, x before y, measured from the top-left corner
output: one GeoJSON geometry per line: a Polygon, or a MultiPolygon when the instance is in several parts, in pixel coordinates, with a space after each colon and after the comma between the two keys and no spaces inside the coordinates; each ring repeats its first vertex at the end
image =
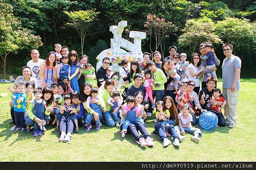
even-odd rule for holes
{"type": "Polygon", "coordinates": [[[169,34],[174,33],[177,30],[177,27],[172,24],[172,22],[166,21],[164,18],[159,18],[152,14],[147,15],[147,20],[144,24],[144,27],[146,28],[145,31],[150,37],[149,48],[151,54],[153,53],[153,50],[157,51],[159,47],[161,49],[161,53],[164,54],[166,37],[169,37],[169,34]],[[154,49],[151,47],[153,39],[155,42],[154,49]]]}

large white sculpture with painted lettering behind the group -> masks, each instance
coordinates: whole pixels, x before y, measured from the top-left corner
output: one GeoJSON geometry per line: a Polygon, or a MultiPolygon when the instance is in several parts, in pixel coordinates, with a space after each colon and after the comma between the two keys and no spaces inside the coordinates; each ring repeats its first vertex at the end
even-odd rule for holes
{"type": "Polygon", "coordinates": [[[119,71],[118,63],[122,59],[128,59],[128,62],[132,60],[142,60],[143,53],[141,51],[141,40],[146,38],[145,32],[130,31],[129,37],[134,39],[134,43],[122,38],[122,32],[127,26],[127,21],[120,21],[118,26],[109,27],[109,31],[113,33],[111,38],[111,48],[102,51],[96,59],[98,60],[96,69],[98,70],[102,66],[102,59],[109,57],[112,65],[110,66],[113,72],[119,71]],[[123,48],[123,49],[122,49],[123,48]]]}

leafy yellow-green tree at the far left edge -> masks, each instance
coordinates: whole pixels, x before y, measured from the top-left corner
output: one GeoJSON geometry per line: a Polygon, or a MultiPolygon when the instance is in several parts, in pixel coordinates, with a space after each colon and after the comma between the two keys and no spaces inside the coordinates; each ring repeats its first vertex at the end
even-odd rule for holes
{"type": "Polygon", "coordinates": [[[3,77],[6,77],[6,59],[11,52],[24,48],[38,48],[41,38],[21,27],[12,14],[12,6],[0,2],[0,56],[3,59],[3,77]]]}

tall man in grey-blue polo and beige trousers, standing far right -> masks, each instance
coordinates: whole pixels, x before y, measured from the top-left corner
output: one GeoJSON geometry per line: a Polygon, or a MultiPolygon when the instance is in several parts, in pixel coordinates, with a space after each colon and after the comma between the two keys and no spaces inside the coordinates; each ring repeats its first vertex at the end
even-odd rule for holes
{"type": "Polygon", "coordinates": [[[224,44],[222,49],[226,56],[221,66],[223,79],[222,94],[227,101],[227,105],[224,108],[224,115],[227,118],[226,122],[229,123],[228,127],[233,128],[237,122],[236,108],[238,91],[240,90],[241,59],[232,54],[232,44],[224,44]]]}

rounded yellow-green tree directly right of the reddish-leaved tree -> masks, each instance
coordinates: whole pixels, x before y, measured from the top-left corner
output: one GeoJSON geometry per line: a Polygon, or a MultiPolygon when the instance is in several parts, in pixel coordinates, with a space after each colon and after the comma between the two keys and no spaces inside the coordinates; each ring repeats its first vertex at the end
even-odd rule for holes
{"type": "Polygon", "coordinates": [[[187,20],[183,34],[179,37],[178,43],[182,47],[189,47],[191,54],[196,51],[197,46],[206,41],[221,43],[222,40],[214,34],[215,23],[204,17],[198,20],[187,20]]]}

